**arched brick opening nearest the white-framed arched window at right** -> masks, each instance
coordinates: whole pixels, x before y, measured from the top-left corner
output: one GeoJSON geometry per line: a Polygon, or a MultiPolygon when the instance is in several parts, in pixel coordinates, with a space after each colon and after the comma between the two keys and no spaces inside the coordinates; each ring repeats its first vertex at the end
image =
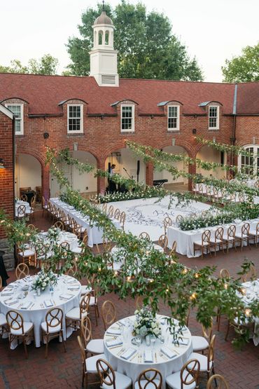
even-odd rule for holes
{"type": "MultiPolygon", "coordinates": [[[[226,162],[226,156],[224,151],[219,151],[214,149],[214,147],[202,146],[201,149],[197,152],[196,158],[201,159],[206,162],[214,162],[224,164],[226,162]]],[[[225,170],[221,168],[216,168],[215,170],[204,170],[201,167],[196,168],[197,174],[204,175],[204,177],[209,177],[213,175],[215,178],[225,177],[225,170]]]]}

